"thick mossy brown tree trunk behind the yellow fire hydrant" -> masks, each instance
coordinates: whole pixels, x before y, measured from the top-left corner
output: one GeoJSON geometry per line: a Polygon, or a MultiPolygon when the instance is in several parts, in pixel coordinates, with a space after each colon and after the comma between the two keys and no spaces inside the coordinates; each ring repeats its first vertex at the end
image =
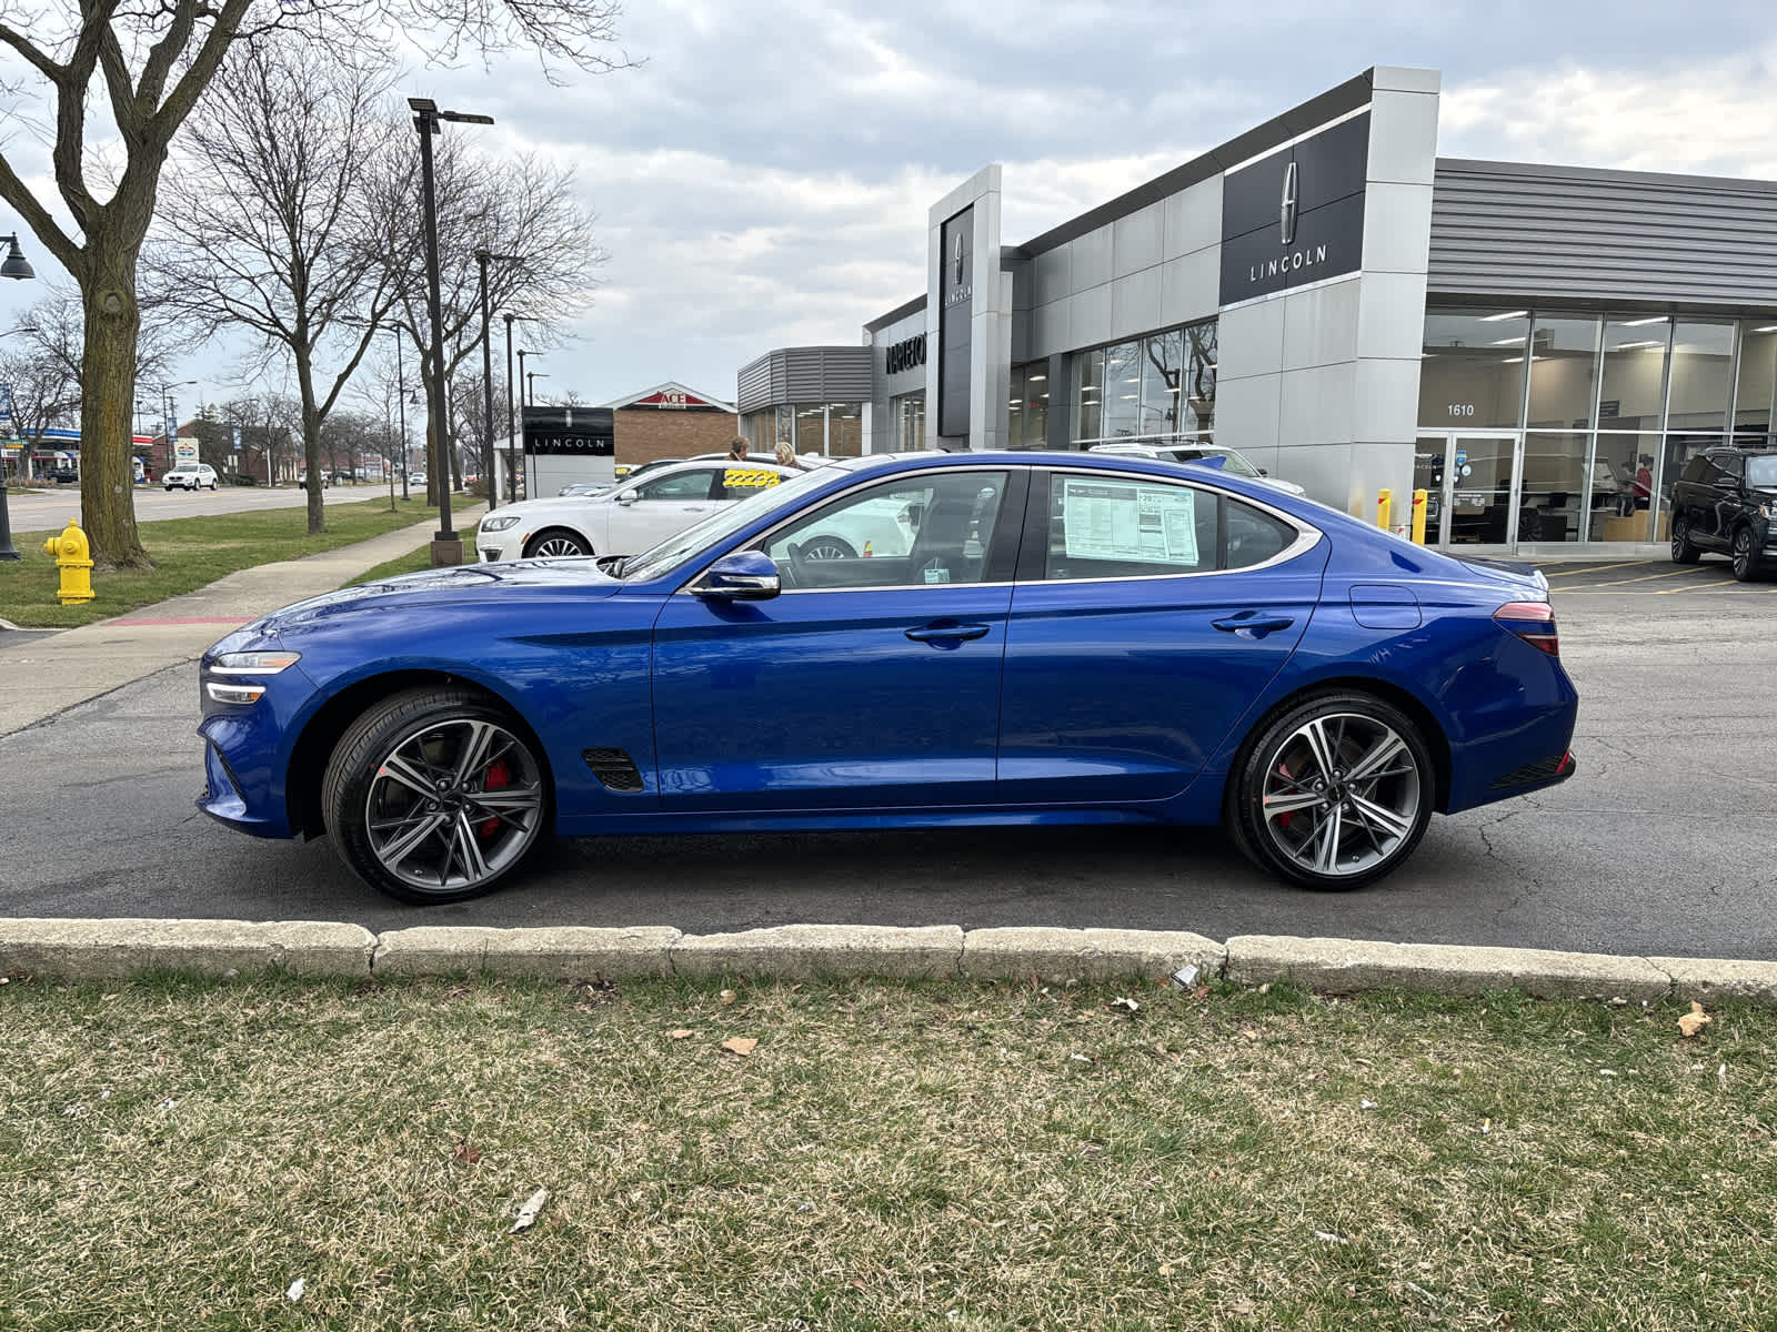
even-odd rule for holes
{"type": "Polygon", "coordinates": [[[135,527],[130,432],[135,405],[137,247],[103,229],[87,240],[80,275],[85,357],[80,366],[80,511],[98,568],[153,568],[135,527]]]}

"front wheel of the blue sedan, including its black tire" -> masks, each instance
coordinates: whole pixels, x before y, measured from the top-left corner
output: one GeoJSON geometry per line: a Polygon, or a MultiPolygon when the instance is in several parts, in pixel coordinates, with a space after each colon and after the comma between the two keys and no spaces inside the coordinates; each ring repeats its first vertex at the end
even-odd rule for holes
{"type": "Polygon", "coordinates": [[[322,817],[371,888],[460,902],[512,879],[549,840],[554,797],[542,746],[487,694],[409,689],[339,737],[322,817]]]}

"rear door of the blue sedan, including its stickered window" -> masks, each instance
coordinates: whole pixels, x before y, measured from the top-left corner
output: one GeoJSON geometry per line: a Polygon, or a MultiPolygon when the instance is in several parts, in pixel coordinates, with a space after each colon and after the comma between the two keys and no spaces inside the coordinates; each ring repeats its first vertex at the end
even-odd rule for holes
{"type": "Polygon", "coordinates": [[[1006,627],[999,797],[1182,792],[1295,650],[1327,549],[1210,485],[1040,471],[1006,627]]]}

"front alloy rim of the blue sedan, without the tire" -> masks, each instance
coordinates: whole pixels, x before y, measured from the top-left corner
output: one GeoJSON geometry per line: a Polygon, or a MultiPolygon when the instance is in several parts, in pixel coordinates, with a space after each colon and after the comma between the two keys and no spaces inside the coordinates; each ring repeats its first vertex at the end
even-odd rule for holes
{"type": "Polygon", "coordinates": [[[434,721],[377,764],[364,796],[370,852],[402,883],[464,893],[499,877],[544,826],[530,748],[480,718],[434,721]]]}

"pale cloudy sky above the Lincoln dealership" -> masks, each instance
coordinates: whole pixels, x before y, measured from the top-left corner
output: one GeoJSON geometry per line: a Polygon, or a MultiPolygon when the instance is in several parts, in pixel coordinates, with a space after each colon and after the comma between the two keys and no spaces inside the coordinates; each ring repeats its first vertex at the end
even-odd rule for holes
{"type": "MultiPolygon", "coordinates": [[[[981,165],[1004,165],[1016,243],[1372,64],[1443,71],[1443,156],[1777,179],[1770,0],[626,0],[620,30],[636,69],[402,85],[498,121],[453,133],[570,165],[597,217],[611,258],[540,396],[732,400],[759,353],[857,343],[919,295],[926,210],[981,165]]],[[[0,291],[0,327],[32,286],[0,291]]],[[[236,373],[222,343],[178,378],[220,400],[236,373]]]]}

